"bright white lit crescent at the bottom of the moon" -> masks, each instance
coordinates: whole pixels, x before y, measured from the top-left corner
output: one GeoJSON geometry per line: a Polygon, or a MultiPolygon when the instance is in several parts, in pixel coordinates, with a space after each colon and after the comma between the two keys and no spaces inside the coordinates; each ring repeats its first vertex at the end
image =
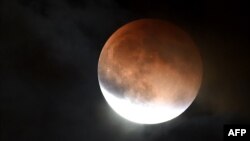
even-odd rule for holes
{"type": "Polygon", "coordinates": [[[102,84],[101,91],[110,107],[125,119],[140,124],[157,124],[171,120],[186,110],[166,105],[134,104],[129,99],[121,99],[113,96],[102,84]]]}

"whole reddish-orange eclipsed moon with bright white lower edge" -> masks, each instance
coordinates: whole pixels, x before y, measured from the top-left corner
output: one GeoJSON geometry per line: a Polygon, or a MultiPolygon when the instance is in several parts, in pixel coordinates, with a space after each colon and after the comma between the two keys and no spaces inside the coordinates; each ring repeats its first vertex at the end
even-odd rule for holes
{"type": "Polygon", "coordinates": [[[123,118],[157,124],[182,114],[202,81],[202,59],[191,37],[158,19],[132,21],[105,43],[98,62],[104,98],[123,118]]]}

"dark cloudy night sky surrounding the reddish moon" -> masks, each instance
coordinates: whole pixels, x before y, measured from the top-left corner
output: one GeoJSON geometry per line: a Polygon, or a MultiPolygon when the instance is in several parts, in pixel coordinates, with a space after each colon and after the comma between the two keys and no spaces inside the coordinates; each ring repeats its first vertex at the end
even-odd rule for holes
{"type": "Polygon", "coordinates": [[[224,124],[250,121],[248,9],[226,0],[0,1],[0,140],[222,140],[224,124]],[[194,103],[158,125],[115,114],[97,79],[105,41],[141,18],[180,26],[204,63],[194,103]]]}

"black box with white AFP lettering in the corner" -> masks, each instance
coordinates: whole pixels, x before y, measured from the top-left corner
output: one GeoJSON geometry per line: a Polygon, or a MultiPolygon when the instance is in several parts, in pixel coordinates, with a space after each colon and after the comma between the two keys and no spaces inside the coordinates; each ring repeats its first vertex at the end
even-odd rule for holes
{"type": "Polygon", "coordinates": [[[224,141],[249,141],[249,125],[224,125],[224,141]]]}

